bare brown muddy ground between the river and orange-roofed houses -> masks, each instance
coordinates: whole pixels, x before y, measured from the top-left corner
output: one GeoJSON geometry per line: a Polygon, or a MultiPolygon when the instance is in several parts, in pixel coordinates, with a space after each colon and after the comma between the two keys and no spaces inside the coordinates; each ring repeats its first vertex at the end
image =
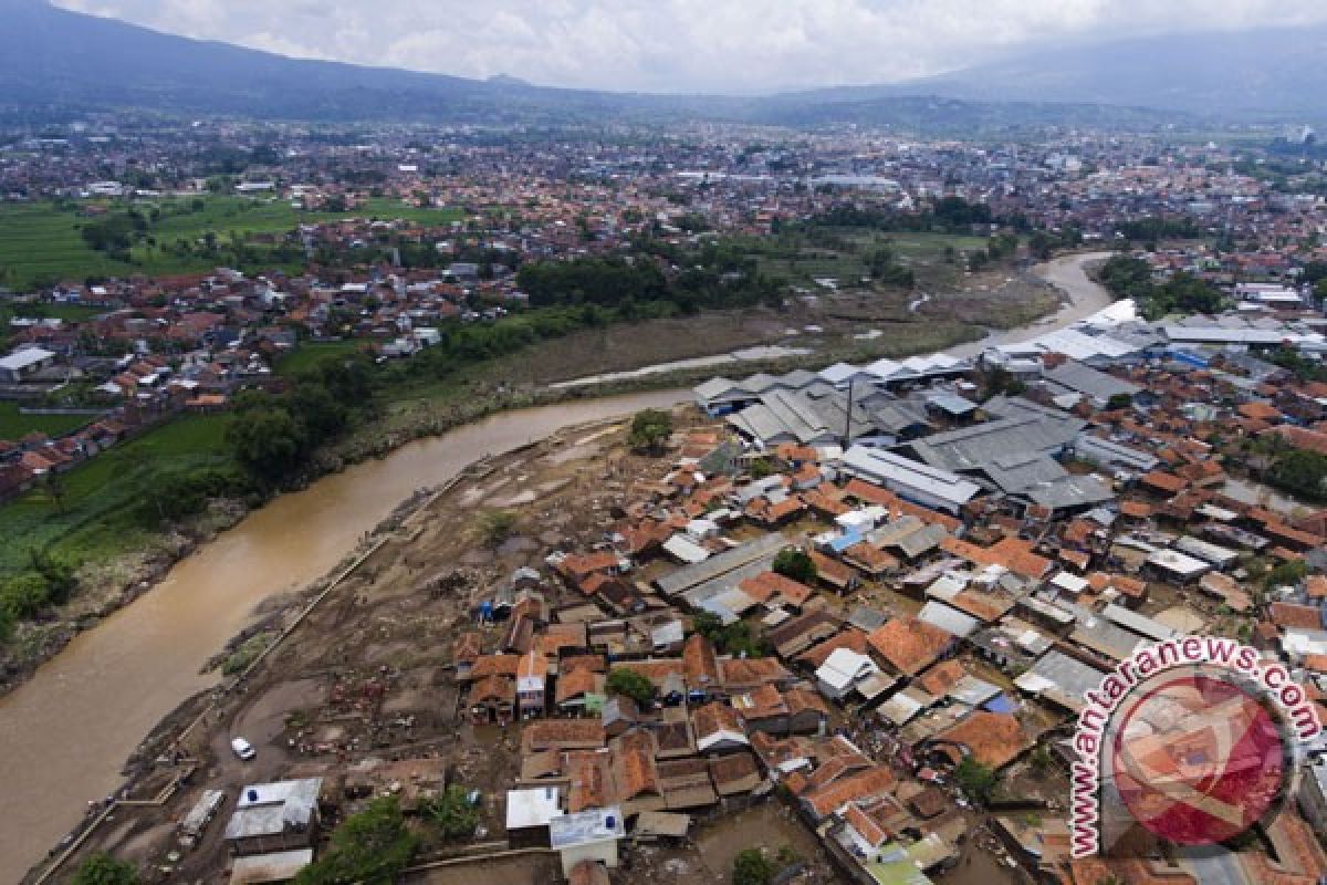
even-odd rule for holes
{"type": "MultiPolygon", "coordinates": [[[[679,426],[685,421],[679,414],[679,426]]],[[[219,881],[218,870],[227,866],[220,833],[240,787],[324,776],[326,796],[337,792],[348,766],[365,759],[426,760],[450,782],[480,788],[483,839],[502,840],[503,795],[519,768],[518,730],[476,728],[458,715],[451,647],[472,626],[479,600],[512,571],[539,565],[557,548],[588,548],[614,521],[614,510],[640,495],[640,478],[660,472],[657,459],[626,451],[625,433],[624,422],[565,431],[486,463],[398,520],[256,670],[215,695],[218,706],[180,744],[173,743],[175,735],[214,697],[195,698],[154,731],[131,766],[133,799],[151,800],[196,770],[165,804],[118,807],[65,870],[105,849],[142,864],[145,881],[219,881]],[[482,528],[494,510],[516,516],[510,537],[498,544],[482,528]],[[257,758],[238,760],[230,751],[234,736],[248,739],[257,758]],[[204,787],[227,789],[228,801],[202,844],[186,851],[174,823],[204,787]]],[[[553,605],[572,601],[560,585],[547,594],[553,605]]],[[[263,606],[273,636],[309,596],[263,606]]],[[[486,650],[496,647],[500,633],[486,633],[486,650]]],[[[345,800],[341,811],[353,808],[345,800]]],[[[447,848],[427,843],[426,856],[447,848]]],[[[430,873],[438,881],[451,874],[430,873]]],[[[536,878],[547,881],[543,873],[536,878]]]]}

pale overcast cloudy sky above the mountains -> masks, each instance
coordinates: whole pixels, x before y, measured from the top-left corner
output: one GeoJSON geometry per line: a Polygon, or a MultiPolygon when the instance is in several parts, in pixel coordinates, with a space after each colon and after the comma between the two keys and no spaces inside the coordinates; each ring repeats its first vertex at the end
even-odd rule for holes
{"type": "Polygon", "coordinates": [[[190,37],[551,86],[889,82],[1064,41],[1327,21],[1323,0],[56,0],[190,37]]]}

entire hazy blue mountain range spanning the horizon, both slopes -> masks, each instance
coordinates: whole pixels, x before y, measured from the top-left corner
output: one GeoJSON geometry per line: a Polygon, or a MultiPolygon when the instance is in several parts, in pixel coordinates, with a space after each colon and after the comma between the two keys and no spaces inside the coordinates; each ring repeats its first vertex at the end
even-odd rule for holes
{"type": "Polygon", "coordinates": [[[532,86],[296,60],[0,0],[0,118],[107,109],[268,119],[606,122],[710,119],[937,130],[1164,126],[1196,117],[1315,119],[1327,29],[1185,34],[1042,50],[940,77],[767,97],[532,86]]]}

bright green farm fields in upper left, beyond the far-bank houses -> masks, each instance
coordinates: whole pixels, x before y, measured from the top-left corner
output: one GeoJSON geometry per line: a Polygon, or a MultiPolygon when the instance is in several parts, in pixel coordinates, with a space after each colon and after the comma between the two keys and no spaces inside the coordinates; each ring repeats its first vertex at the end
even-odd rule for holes
{"type": "MultiPolygon", "coordinates": [[[[376,198],[346,212],[305,212],[275,198],[218,196],[159,198],[135,200],[133,204],[97,203],[114,210],[133,206],[145,215],[159,211],[147,234],[158,244],[176,240],[196,243],[207,234],[218,240],[260,234],[285,234],[300,224],[341,218],[403,219],[413,223],[442,226],[463,218],[455,208],[417,208],[395,199],[376,198]],[[195,200],[202,210],[195,211],[195,200]]],[[[56,281],[82,281],[90,276],[159,276],[208,271],[215,261],[203,256],[171,255],[158,247],[135,245],[133,263],[115,261],[97,252],[80,235],[90,219],[74,204],[0,203],[0,287],[15,291],[40,288],[56,281]]],[[[288,272],[299,267],[280,264],[288,272]]],[[[259,267],[272,267],[263,265],[259,267]]],[[[255,268],[245,268],[255,269],[255,268]]]]}

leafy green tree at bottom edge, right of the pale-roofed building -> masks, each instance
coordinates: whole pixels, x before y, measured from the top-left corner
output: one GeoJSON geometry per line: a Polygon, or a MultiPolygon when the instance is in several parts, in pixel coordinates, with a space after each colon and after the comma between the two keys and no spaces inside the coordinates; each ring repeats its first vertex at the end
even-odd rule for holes
{"type": "Polygon", "coordinates": [[[295,885],[391,885],[419,848],[394,796],[374,799],[332,833],[326,851],[300,870],[295,885]]]}

